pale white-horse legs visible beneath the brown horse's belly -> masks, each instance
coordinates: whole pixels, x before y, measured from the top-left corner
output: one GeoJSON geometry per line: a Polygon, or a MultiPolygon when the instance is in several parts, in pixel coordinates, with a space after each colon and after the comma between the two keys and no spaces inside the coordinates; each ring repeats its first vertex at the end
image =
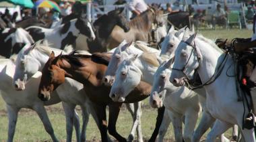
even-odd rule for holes
{"type": "MultiPolygon", "coordinates": [[[[139,125],[140,123],[140,117],[141,117],[141,110],[140,110],[140,105],[141,102],[135,102],[133,103],[134,106],[134,115],[133,115],[133,127],[131,128],[131,133],[128,137],[128,141],[133,141],[134,137],[135,137],[135,130],[137,129],[137,135],[138,135],[138,139],[141,140],[142,139],[142,134],[141,134],[141,125],[139,125]],[[139,130],[140,129],[140,130],[139,130]]],[[[142,139],[143,141],[143,139],[142,139]]]]}

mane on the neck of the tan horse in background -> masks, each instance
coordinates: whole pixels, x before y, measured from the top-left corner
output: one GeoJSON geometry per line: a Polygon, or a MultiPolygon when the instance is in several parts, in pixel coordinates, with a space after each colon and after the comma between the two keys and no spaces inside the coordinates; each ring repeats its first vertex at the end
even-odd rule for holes
{"type": "Polygon", "coordinates": [[[146,25],[149,25],[149,23],[146,23],[146,22],[150,21],[150,19],[148,19],[149,11],[150,9],[143,11],[140,15],[131,19],[131,21],[129,22],[129,26],[135,27],[137,29],[141,29],[142,31],[146,31],[147,30],[146,25]],[[143,23],[146,23],[146,25],[143,23]]]}

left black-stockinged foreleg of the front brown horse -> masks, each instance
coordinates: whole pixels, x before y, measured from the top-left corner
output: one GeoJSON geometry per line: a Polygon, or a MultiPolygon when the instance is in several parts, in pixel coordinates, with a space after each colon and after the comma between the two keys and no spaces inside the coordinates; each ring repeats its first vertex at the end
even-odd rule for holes
{"type": "Polygon", "coordinates": [[[96,123],[98,129],[100,129],[101,141],[108,141],[108,130],[106,123],[106,105],[105,104],[96,104],[92,102],[92,109],[94,109],[96,123]]]}

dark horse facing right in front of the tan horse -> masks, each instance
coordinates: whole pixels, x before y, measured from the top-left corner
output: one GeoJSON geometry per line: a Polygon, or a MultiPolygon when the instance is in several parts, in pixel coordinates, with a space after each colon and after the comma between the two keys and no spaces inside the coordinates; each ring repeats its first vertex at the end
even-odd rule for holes
{"type": "Polygon", "coordinates": [[[124,33],[129,31],[128,21],[123,16],[122,11],[121,9],[115,9],[94,21],[96,40],[88,41],[90,53],[106,52],[108,38],[116,25],[119,25],[124,33]]]}

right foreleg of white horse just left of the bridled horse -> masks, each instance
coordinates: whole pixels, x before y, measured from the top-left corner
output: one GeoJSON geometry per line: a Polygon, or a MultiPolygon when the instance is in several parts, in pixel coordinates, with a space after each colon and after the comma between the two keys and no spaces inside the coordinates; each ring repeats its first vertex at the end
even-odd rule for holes
{"type": "Polygon", "coordinates": [[[195,129],[195,125],[197,123],[197,119],[199,117],[199,111],[196,110],[189,110],[185,114],[185,127],[184,127],[184,133],[183,138],[187,141],[192,141],[193,133],[195,129]]]}

